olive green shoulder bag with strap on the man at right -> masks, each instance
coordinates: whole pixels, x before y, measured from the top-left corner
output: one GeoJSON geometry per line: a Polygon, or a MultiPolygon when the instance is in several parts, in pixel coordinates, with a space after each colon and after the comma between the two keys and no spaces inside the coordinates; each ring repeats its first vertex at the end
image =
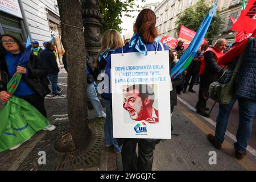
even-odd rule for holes
{"type": "Polygon", "coordinates": [[[243,57],[245,56],[246,48],[249,45],[249,43],[251,42],[251,40],[253,40],[253,38],[250,38],[247,41],[246,46],[243,49],[243,52],[237,61],[236,68],[233,71],[230,81],[227,84],[220,83],[221,78],[224,77],[226,74],[226,71],[225,71],[218,81],[210,84],[208,94],[209,94],[209,97],[212,98],[212,100],[214,100],[220,104],[229,104],[229,102],[231,101],[233,94],[234,94],[234,85],[237,80],[238,70],[241,66],[243,57]]]}

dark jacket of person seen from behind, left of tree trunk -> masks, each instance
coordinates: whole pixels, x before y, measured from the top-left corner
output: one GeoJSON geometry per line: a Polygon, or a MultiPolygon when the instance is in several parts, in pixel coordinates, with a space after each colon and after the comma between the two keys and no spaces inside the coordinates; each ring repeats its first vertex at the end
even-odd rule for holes
{"type": "Polygon", "coordinates": [[[58,75],[60,69],[56,62],[55,54],[52,51],[44,49],[40,53],[40,59],[43,61],[44,64],[46,64],[48,75],[58,75]]]}

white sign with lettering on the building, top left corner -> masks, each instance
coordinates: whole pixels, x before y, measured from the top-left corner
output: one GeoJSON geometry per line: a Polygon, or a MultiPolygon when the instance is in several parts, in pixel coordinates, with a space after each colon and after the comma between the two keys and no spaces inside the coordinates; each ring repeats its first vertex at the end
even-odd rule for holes
{"type": "Polygon", "coordinates": [[[23,18],[18,0],[0,0],[0,11],[23,18]]]}

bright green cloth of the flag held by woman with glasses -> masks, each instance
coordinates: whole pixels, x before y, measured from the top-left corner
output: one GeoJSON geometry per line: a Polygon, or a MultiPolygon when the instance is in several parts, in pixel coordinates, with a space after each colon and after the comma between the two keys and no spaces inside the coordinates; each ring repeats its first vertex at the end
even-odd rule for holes
{"type": "MultiPolygon", "coordinates": [[[[7,84],[7,90],[13,94],[22,75],[15,73],[7,84]]],[[[12,96],[0,110],[0,152],[8,150],[30,139],[50,122],[34,106],[21,98],[12,96]]]]}

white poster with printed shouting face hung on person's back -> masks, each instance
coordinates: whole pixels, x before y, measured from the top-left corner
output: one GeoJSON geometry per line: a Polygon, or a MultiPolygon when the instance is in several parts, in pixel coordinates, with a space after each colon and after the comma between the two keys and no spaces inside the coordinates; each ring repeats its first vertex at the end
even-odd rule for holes
{"type": "Polygon", "coordinates": [[[168,51],[112,55],[114,138],[171,138],[168,51]]]}

